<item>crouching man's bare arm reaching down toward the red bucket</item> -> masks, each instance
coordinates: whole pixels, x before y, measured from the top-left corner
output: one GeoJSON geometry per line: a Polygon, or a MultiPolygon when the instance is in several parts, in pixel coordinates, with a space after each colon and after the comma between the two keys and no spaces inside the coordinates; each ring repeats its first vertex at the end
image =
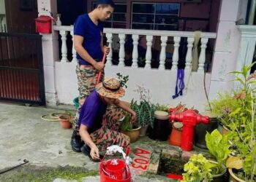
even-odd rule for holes
{"type": "Polygon", "coordinates": [[[88,132],[89,128],[81,124],[79,129],[79,135],[82,138],[82,140],[91,148],[90,155],[92,159],[99,159],[99,149],[95,145],[95,143],[91,140],[91,136],[88,132]]]}

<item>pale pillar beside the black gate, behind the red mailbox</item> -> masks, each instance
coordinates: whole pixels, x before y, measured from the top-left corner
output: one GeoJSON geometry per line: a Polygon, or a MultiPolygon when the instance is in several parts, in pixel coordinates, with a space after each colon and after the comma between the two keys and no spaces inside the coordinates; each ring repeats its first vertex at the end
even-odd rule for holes
{"type": "MultiPolygon", "coordinates": [[[[50,15],[57,12],[57,0],[38,0],[39,15],[50,15]]],[[[55,61],[59,60],[58,33],[42,34],[42,55],[45,74],[45,99],[47,106],[56,106],[59,103],[56,91],[55,61]]]]}

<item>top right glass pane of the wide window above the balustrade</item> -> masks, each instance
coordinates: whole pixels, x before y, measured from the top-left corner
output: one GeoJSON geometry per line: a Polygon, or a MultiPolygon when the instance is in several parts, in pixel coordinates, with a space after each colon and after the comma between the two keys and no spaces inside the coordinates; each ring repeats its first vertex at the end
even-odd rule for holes
{"type": "Polygon", "coordinates": [[[173,14],[178,15],[179,4],[156,4],[156,13],[157,14],[173,14]]]}

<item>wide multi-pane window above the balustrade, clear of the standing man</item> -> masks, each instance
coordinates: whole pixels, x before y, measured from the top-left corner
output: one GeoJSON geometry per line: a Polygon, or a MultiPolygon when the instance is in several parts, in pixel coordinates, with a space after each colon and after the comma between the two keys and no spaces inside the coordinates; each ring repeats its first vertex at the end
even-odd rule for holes
{"type": "Polygon", "coordinates": [[[132,28],[147,30],[178,30],[180,4],[132,3],[132,28]]]}

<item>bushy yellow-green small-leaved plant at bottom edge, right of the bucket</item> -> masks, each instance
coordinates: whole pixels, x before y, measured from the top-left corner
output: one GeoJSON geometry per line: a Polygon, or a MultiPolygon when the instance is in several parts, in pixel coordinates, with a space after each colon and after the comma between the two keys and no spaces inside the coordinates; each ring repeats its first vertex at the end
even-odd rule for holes
{"type": "Polygon", "coordinates": [[[183,182],[211,181],[211,162],[202,154],[192,155],[184,165],[183,182]]]}

